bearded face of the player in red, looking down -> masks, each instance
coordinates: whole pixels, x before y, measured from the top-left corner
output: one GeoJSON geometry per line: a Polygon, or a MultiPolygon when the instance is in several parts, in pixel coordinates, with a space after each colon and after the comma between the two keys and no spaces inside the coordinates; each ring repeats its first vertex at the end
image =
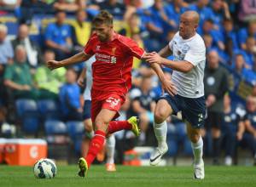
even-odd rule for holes
{"type": "Polygon", "coordinates": [[[106,42],[110,38],[112,29],[113,26],[108,26],[107,24],[96,24],[94,31],[101,42],[106,42]]]}

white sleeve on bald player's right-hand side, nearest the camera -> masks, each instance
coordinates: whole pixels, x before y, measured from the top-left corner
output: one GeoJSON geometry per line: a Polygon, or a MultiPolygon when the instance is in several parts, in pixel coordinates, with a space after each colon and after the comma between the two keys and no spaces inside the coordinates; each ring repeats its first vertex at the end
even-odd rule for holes
{"type": "Polygon", "coordinates": [[[196,43],[194,46],[191,45],[189,51],[185,54],[184,60],[194,66],[206,60],[206,47],[204,42],[196,43]]]}

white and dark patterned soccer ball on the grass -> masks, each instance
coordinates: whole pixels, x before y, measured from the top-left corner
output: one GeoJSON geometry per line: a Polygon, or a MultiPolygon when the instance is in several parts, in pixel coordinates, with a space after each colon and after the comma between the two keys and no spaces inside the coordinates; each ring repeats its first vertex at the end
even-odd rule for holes
{"type": "Polygon", "coordinates": [[[54,178],[57,167],[54,161],[42,158],[35,163],[33,171],[36,178],[54,178]]]}

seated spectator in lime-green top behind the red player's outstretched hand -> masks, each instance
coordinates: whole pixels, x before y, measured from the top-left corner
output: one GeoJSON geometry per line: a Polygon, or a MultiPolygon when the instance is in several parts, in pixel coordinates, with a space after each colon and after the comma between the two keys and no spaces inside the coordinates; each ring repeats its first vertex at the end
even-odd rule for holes
{"type": "Polygon", "coordinates": [[[57,99],[61,84],[65,82],[65,68],[50,71],[45,64],[51,59],[55,59],[55,53],[50,50],[44,52],[44,64],[40,65],[34,75],[37,88],[40,90],[40,99],[57,99]]]}

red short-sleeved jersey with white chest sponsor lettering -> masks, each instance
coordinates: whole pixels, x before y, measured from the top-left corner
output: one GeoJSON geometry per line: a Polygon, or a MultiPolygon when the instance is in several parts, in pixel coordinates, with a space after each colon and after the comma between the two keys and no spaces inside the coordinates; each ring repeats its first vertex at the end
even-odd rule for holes
{"type": "Polygon", "coordinates": [[[144,50],[137,42],[117,33],[110,42],[101,42],[94,34],[85,45],[84,54],[96,56],[92,64],[93,90],[126,94],[131,88],[132,59],[141,59],[144,50]]]}

